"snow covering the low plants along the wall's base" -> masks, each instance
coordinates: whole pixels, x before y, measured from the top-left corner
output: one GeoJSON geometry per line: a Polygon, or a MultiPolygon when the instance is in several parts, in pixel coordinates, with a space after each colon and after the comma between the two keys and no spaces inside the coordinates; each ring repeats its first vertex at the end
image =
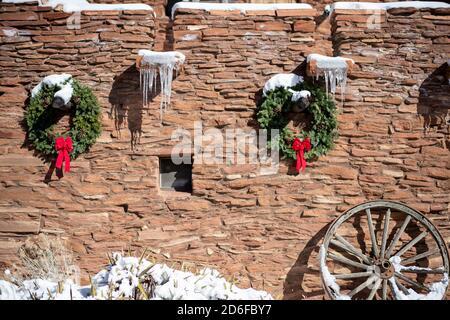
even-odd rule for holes
{"type": "Polygon", "coordinates": [[[34,279],[20,286],[0,280],[0,300],[29,299],[132,299],[141,286],[143,276],[155,280],[154,300],[271,300],[265,291],[240,289],[226,281],[217,270],[203,269],[199,274],[169,268],[165,264],[152,264],[146,259],[112,255],[112,264],[92,278],[92,287],[80,287],[70,280],[57,283],[34,279]]]}

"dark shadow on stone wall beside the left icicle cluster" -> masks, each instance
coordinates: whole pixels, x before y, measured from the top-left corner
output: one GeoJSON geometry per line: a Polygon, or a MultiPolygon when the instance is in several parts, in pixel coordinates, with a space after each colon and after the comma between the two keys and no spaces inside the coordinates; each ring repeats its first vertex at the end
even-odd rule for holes
{"type": "MultiPolygon", "coordinates": [[[[150,97],[149,101],[159,94],[160,89],[150,97]]],[[[120,75],[114,78],[111,92],[109,93],[111,104],[110,118],[114,120],[116,132],[120,138],[121,129],[128,127],[130,131],[131,149],[134,150],[139,143],[142,134],[142,91],[140,88],[140,73],[136,65],[128,67],[120,75]]]]}

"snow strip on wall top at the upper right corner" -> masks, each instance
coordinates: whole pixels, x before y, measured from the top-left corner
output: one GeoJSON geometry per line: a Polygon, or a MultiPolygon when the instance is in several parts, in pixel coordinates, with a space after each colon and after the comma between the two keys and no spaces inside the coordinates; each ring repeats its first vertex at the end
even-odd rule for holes
{"type": "Polygon", "coordinates": [[[393,8],[450,8],[450,4],[437,1],[402,1],[402,2],[335,2],[330,6],[331,11],[342,10],[388,10],[393,8]]]}

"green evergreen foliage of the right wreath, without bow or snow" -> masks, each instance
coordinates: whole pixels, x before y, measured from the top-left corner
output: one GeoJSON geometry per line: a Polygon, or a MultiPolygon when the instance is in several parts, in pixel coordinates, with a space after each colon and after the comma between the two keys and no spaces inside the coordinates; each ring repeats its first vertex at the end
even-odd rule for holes
{"type": "MultiPolygon", "coordinates": [[[[289,89],[289,88],[288,88],[289,89]]],[[[334,145],[338,136],[337,108],[331,96],[325,90],[311,82],[301,82],[291,87],[295,91],[307,90],[311,93],[310,103],[305,109],[306,116],[311,122],[306,130],[295,136],[287,127],[289,113],[297,102],[291,101],[293,93],[287,88],[277,87],[267,93],[258,107],[257,120],[262,129],[278,129],[278,139],[269,137],[269,147],[278,146],[282,159],[296,160],[296,152],[292,148],[292,142],[297,137],[309,138],[312,149],[305,153],[306,160],[318,158],[326,154],[334,145]]]]}

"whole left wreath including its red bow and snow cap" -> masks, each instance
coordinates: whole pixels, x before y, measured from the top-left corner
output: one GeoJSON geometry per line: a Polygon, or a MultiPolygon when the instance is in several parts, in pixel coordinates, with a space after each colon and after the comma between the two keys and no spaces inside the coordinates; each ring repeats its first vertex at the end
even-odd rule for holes
{"type": "Polygon", "coordinates": [[[53,75],[33,89],[25,122],[30,145],[44,157],[57,157],[57,168],[65,161],[67,172],[70,160],[86,152],[100,136],[100,105],[89,87],[70,75],[53,75]],[[57,77],[64,81],[54,81],[57,77]],[[61,110],[70,112],[70,129],[66,132],[55,128],[64,114],[61,110]]]}

